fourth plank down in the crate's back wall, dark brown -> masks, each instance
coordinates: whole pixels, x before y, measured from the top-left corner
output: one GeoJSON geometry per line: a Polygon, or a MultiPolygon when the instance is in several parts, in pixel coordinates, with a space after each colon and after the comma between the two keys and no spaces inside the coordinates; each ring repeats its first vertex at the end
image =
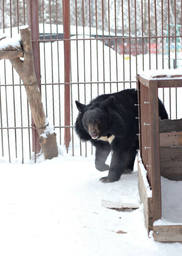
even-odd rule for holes
{"type": "Polygon", "coordinates": [[[182,175],[182,161],[161,162],[161,175],[182,175]]]}

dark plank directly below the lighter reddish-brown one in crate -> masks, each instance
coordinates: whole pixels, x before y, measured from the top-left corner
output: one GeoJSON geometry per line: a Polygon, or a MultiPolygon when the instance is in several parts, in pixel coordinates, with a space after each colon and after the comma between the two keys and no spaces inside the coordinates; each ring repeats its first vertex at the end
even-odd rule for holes
{"type": "Polygon", "coordinates": [[[165,161],[182,161],[182,147],[161,147],[160,160],[165,161]]]}

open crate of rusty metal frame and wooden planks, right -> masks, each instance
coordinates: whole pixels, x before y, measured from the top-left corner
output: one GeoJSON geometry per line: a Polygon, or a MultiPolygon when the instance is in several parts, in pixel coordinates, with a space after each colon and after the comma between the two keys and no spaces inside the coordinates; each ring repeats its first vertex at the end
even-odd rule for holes
{"type": "Polygon", "coordinates": [[[148,233],[153,230],[154,240],[158,242],[182,242],[182,225],[154,225],[161,219],[161,175],[170,180],[182,180],[182,119],[160,120],[158,114],[158,88],[171,87],[182,87],[181,74],[150,78],[138,75],[141,156],[138,159],[138,190],[145,227],[148,233]],[[147,193],[149,188],[151,197],[147,193]]]}

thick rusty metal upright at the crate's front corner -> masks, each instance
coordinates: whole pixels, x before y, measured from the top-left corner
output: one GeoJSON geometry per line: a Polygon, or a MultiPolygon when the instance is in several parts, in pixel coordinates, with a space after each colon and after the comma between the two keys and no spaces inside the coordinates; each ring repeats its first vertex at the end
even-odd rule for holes
{"type": "Polygon", "coordinates": [[[150,141],[152,170],[153,222],[161,219],[161,173],[158,113],[158,82],[149,81],[150,141]]]}

